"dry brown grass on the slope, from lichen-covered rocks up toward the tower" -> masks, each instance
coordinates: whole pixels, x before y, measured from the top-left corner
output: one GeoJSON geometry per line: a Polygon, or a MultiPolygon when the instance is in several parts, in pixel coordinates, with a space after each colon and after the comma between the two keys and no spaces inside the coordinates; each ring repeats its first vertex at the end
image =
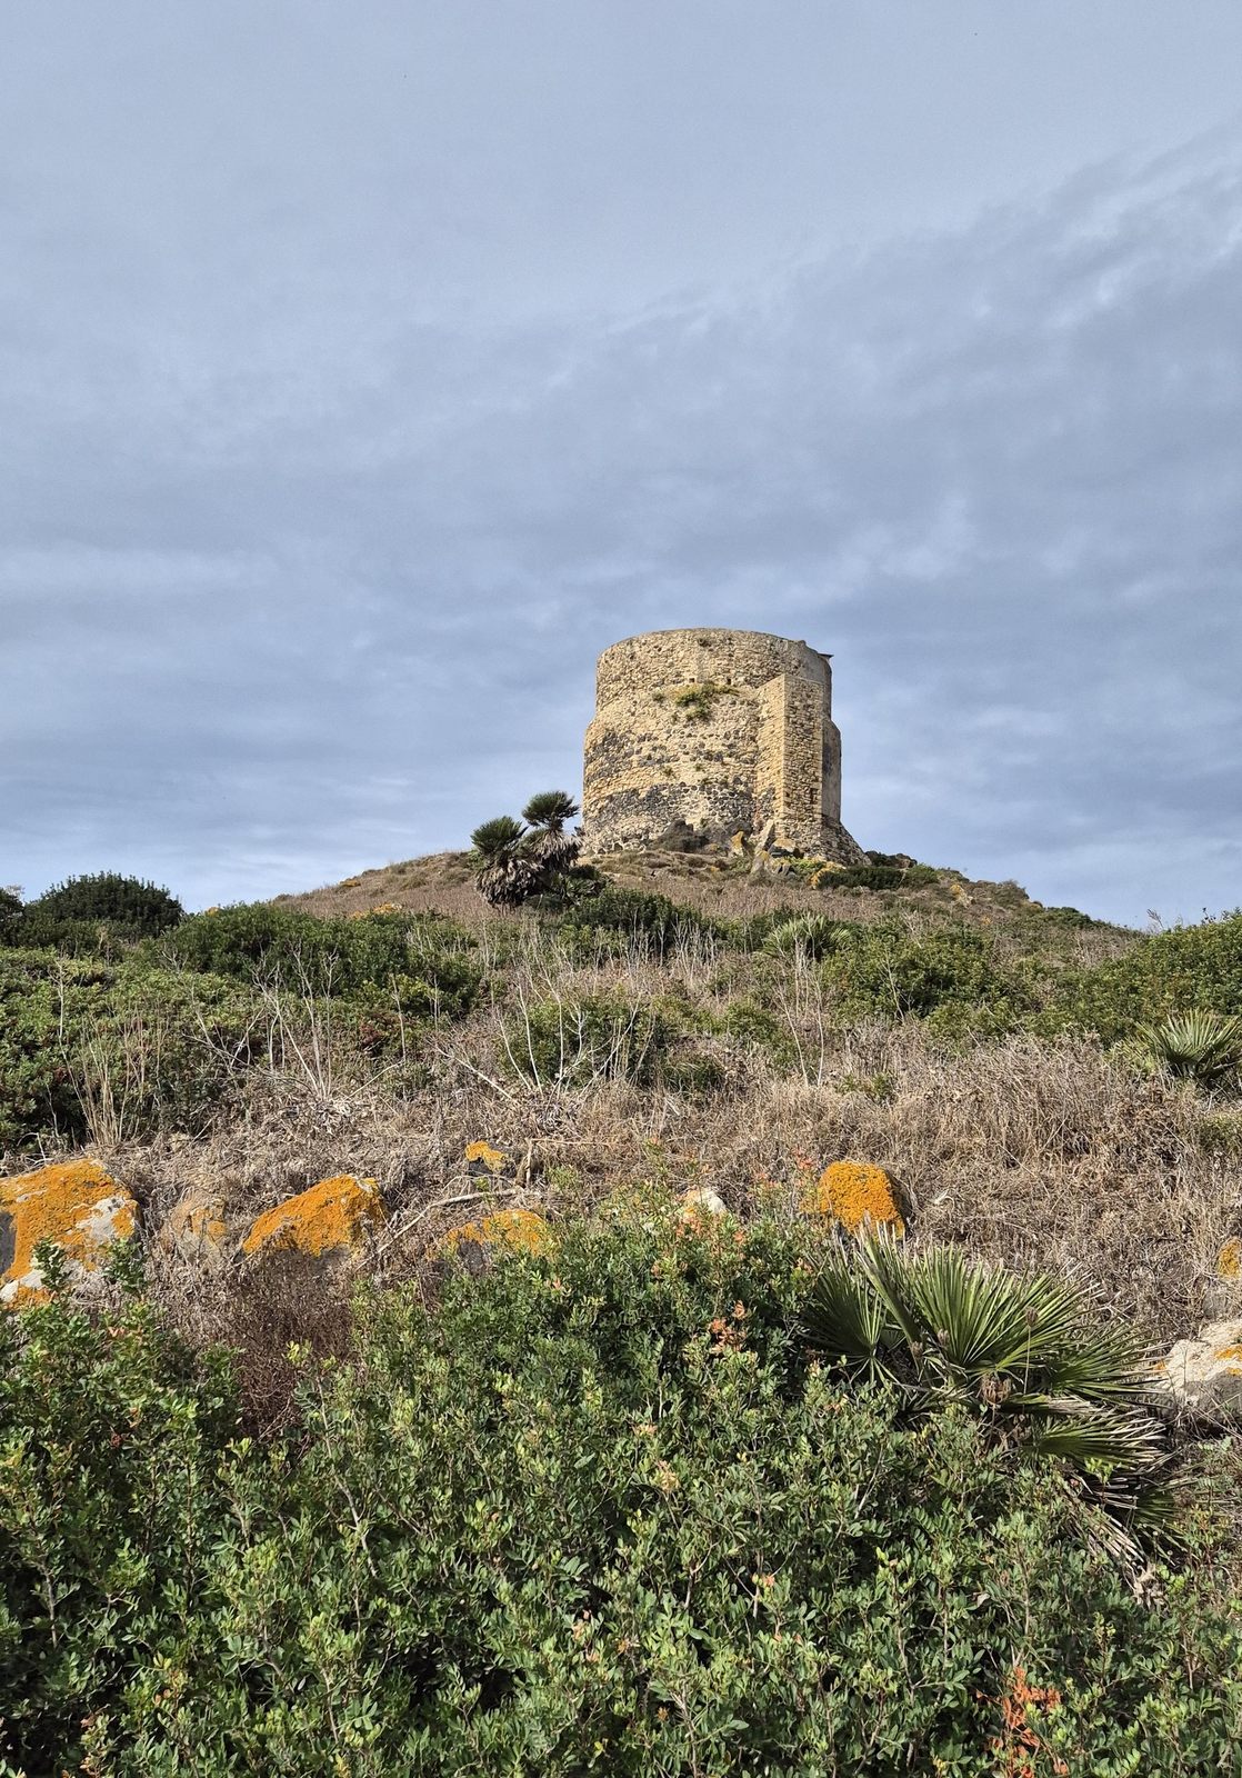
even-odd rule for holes
{"type": "MultiPolygon", "coordinates": [[[[728,916],[800,900],[853,919],[892,912],[881,896],[824,896],[720,871],[711,859],[663,857],[666,877],[659,857],[647,857],[625,861],[618,880],[728,916]]],[[[999,928],[1022,917],[1011,885],[974,887],[997,891],[999,928]]],[[[140,1197],[151,1230],[185,1191],[211,1189],[240,1236],[281,1198],[354,1172],[380,1182],[391,1214],[371,1268],[426,1282],[428,1248],[489,1195],[556,1214],[663,1181],[713,1186],[746,1214],[773,1189],[792,1205],[805,1168],[849,1157],[894,1177],[913,1241],[949,1239],[991,1261],[1066,1271],[1103,1312],[1167,1346],[1203,1319],[1215,1253],[1242,1227],[1237,1156],[1205,1143],[1205,1101],[1086,1038],[1011,1037],[952,1051],[917,1021],[848,1026],[805,955],[739,953],[698,928],[663,957],[641,935],[615,955],[613,933],[585,958],[535,919],[487,910],[462,853],[286,900],[316,912],[400,901],[453,914],[473,932],[490,997],[462,1021],[414,1029],[398,1072],[348,1053],[327,1072],[252,1067],[238,1072],[240,1111],[211,1136],[112,1145],[101,1157],[140,1197]],[[640,1088],[609,1074],[606,1058],[574,1083],[528,1067],[522,1008],[561,1006],[572,1026],[572,1010],[592,996],[681,1008],[689,1051],[711,1056],[723,1079],[693,1092],[640,1088]],[[723,1035],[739,996],[776,1010],[776,1049],[723,1035]],[[480,1138],[512,1156],[490,1193],[466,1165],[480,1138]]],[[[974,905],[990,905],[988,896],[974,905]]],[[[915,930],[940,914],[912,898],[899,907],[915,930]]],[[[1132,942],[1109,928],[1054,937],[1082,964],[1132,942]]],[[[208,1278],[153,1243],[149,1275],[181,1326],[247,1350],[256,1422],[284,1412],[290,1339],[334,1351],[348,1337],[343,1273],[233,1261],[208,1278]]]]}

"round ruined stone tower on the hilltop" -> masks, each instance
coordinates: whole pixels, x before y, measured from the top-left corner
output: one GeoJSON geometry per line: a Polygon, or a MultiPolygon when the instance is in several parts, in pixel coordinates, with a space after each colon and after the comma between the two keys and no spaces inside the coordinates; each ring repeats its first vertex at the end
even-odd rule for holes
{"type": "Polygon", "coordinates": [[[604,649],[583,827],[588,852],[741,830],[858,862],[840,825],[828,656],[759,629],[654,629],[604,649]]]}

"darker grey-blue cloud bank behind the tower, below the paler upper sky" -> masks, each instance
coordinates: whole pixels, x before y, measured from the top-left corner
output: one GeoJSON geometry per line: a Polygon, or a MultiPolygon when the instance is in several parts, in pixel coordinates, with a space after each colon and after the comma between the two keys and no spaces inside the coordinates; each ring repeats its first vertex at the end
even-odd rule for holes
{"type": "Polygon", "coordinates": [[[599,647],[736,622],[835,653],[865,845],[1242,900],[1240,219],[1230,139],[634,318],[50,336],[0,877],[208,901],[460,843],[576,777],[599,647]]]}

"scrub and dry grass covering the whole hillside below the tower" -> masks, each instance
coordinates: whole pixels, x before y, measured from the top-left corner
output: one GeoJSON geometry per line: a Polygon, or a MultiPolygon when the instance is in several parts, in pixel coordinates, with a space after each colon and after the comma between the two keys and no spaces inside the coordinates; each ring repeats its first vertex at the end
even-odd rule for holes
{"type": "Polygon", "coordinates": [[[561,818],[490,859],[521,912],[0,896],[0,1172],[89,1145],[146,1225],[0,1316],[0,1774],[1230,1771],[1237,1458],[1134,1371],[1242,1230],[1242,914],[901,857],[693,903],[561,818]],[[798,1214],[842,1157],[906,1294],[798,1214]],[[361,1282],[158,1239],[345,1170],[361,1282]],[[531,1204],[547,1252],[439,1241],[531,1204]],[[961,1252],[1050,1284],[958,1341],[961,1252]]]}

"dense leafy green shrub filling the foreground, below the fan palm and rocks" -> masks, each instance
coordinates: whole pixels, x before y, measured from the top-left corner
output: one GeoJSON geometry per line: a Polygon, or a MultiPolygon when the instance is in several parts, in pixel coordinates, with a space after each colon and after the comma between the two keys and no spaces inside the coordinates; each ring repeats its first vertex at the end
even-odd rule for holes
{"type": "Polygon", "coordinates": [[[0,1325],[11,1767],[1233,1769],[1210,1545],[1144,1602],[1045,1458],[803,1366],[787,1230],[645,1220],[366,1300],[267,1447],[135,1305],[0,1325]]]}

